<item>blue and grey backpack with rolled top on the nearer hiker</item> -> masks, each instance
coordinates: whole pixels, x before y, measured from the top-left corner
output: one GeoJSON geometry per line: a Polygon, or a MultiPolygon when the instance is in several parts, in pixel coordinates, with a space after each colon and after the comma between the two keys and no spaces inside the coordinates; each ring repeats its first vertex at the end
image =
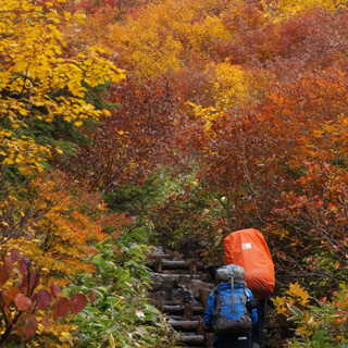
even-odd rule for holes
{"type": "Polygon", "coordinates": [[[246,334],[251,330],[251,316],[246,308],[245,271],[236,264],[224,265],[215,271],[214,332],[222,334],[246,334]]]}

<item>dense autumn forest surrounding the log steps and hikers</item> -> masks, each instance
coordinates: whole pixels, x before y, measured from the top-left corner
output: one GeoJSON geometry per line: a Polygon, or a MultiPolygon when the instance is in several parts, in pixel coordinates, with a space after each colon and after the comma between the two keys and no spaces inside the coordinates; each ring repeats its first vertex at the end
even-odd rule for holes
{"type": "Polygon", "coordinates": [[[348,347],[348,3],[0,0],[0,346],[174,347],[154,245],[270,247],[269,347],[348,347]]]}

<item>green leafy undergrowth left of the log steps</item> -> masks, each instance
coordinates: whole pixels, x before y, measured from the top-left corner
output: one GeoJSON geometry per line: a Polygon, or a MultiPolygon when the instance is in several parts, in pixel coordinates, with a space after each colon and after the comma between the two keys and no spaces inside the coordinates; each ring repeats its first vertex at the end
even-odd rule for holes
{"type": "MultiPolygon", "coordinates": [[[[141,233],[141,232],[140,232],[141,233]]],[[[89,294],[91,302],[72,324],[74,347],[173,347],[175,332],[147,294],[151,272],[144,265],[149,248],[133,236],[98,245],[96,272],[78,278],[72,294],[89,294]]]]}

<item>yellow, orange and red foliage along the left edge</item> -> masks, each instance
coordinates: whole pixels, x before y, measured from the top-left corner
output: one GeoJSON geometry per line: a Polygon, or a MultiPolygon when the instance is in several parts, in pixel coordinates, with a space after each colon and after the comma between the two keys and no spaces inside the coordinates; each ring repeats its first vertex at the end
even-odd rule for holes
{"type": "Polygon", "coordinates": [[[85,123],[109,113],[87,92],[124,76],[97,48],[71,51],[60,28],[82,15],[61,3],[0,2],[1,346],[33,341],[44,328],[64,345],[61,321],[87,298],[60,288],[92,273],[94,244],[126,224],[107,214],[100,194],[52,167],[73,153],[73,137],[88,136],[85,123]]]}

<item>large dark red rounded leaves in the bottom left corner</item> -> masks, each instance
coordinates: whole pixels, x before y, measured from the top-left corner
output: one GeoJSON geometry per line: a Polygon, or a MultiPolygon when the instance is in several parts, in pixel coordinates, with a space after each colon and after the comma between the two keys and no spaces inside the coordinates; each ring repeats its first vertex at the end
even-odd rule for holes
{"type": "Polygon", "coordinates": [[[61,296],[57,284],[45,288],[40,270],[16,249],[2,252],[0,283],[1,321],[4,324],[0,345],[13,333],[28,339],[39,330],[39,322],[49,327],[70,311],[78,313],[87,303],[84,294],[75,294],[70,299],[61,296]]]}

